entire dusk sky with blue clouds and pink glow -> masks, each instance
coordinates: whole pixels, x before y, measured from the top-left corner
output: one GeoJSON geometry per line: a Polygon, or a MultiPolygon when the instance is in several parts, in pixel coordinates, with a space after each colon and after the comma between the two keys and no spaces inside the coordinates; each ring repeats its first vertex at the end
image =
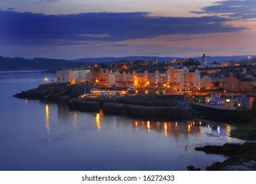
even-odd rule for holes
{"type": "Polygon", "coordinates": [[[0,55],[256,55],[255,0],[1,0],[0,55]]]}

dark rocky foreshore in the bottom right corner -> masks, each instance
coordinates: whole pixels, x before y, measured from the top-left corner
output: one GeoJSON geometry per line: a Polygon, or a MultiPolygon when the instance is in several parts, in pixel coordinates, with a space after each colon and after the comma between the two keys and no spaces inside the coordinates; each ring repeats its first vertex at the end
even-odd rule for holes
{"type": "MultiPolygon", "coordinates": [[[[236,125],[235,125],[236,126],[236,125]]],[[[245,142],[241,145],[226,143],[219,147],[206,147],[200,150],[215,152],[217,154],[227,154],[230,156],[223,162],[215,162],[206,168],[207,171],[226,170],[256,170],[256,124],[246,124],[238,127],[230,133],[230,137],[242,139],[245,142]]]]}

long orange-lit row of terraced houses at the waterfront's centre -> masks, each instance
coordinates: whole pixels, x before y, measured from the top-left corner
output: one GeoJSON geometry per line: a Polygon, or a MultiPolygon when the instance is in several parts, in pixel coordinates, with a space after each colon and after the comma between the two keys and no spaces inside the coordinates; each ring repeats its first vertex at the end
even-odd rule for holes
{"type": "Polygon", "coordinates": [[[101,69],[93,73],[94,83],[97,85],[113,86],[109,83],[114,80],[115,86],[134,87],[136,89],[155,89],[166,91],[198,90],[200,88],[199,70],[184,68],[168,68],[161,70],[123,70],[112,71],[101,69]]]}

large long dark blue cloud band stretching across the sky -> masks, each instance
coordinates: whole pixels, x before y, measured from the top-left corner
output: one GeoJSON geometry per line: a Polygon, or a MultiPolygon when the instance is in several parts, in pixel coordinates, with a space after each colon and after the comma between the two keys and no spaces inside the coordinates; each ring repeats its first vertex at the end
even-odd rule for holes
{"type": "Polygon", "coordinates": [[[0,11],[0,44],[56,45],[123,41],[171,34],[238,32],[247,28],[225,24],[229,18],[154,17],[147,12],[45,15],[0,11]]]}

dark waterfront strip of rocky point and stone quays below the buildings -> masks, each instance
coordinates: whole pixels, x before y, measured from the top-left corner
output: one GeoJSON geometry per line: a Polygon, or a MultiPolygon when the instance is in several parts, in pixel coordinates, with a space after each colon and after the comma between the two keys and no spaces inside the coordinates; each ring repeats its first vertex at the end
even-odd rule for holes
{"type": "Polygon", "coordinates": [[[235,99],[220,99],[220,94],[217,99],[217,94],[211,94],[215,97],[207,97],[207,95],[188,93],[132,95],[126,94],[126,92],[128,93],[128,91],[92,89],[89,85],[46,83],[39,85],[36,89],[17,93],[14,97],[49,101],[67,100],[70,101],[71,110],[99,112],[102,109],[106,114],[125,114],[128,116],[178,118],[197,116],[220,122],[250,123],[253,122],[256,114],[255,103],[253,103],[255,97],[245,97],[244,95],[237,97],[235,101],[235,99]],[[209,104],[217,100],[218,103],[209,104]],[[236,109],[226,110],[228,108],[226,101],[228,100],[230,101],[229,104],[232,104],[230,108],[236,109]],[[199,101],[203,101],[203,103],[199,101]]]}

